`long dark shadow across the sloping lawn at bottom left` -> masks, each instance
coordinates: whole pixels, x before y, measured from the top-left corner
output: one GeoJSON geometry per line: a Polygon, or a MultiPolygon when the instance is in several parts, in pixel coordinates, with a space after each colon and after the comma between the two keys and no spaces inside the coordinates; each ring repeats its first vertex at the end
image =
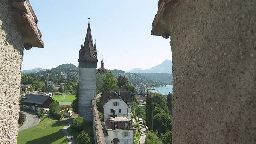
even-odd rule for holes
{"type": "MultiPolygon", "coordinates": [[[[44,136],[42,138],[28,141],[28,142],[26,142],[26,144],[52,144],[53,142],[55,142],[63,137],[60,133],[62,133],[61,130],[59,130],[58,132],[52,133],[50,135],[44,136]]],[[[67,141],[67,139],[65,139],[62,142],[65,142],[65,141],[67,141]]]]}

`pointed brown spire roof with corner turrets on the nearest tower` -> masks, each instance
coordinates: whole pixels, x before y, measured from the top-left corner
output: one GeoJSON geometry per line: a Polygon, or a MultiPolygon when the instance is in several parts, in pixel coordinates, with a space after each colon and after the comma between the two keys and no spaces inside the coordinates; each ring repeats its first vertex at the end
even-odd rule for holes
{"type": "Polygon", "coordinates": [[[90,27],[90,18],[87,28],[87,33],[84,40],[84,46],[81,47],[82,50],[79,51],[79,62],[98,62],[96,56],[94,55],[94,48],[93,48],[93,38],[91,35],[91,27],[90,27]]]}

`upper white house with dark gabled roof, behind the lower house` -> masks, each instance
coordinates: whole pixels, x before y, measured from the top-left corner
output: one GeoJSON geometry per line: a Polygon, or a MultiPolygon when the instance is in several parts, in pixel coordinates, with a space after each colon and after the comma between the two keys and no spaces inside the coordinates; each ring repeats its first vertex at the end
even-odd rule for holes
{"type": "Polygon", "coordinates": [[[131,92],[103,92],[101,95],[103,106],[103,120],[106,121],[108,116],[113,116],[113,110],[116,110],[115,116],[132,117],[131,106],[133,106],[133,95],[131,92]]]}

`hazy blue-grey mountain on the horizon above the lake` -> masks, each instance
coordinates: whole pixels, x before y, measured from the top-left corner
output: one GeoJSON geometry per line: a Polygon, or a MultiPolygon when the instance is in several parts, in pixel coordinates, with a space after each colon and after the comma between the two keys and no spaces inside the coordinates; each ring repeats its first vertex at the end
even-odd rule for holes
{"type": "Polygon", "coordinates": [[[128,73],[172,73],[172,61],[166,59],[161,64],[149,69],[142,70],[141,68],[134,68],[126,72],[128,73]]]}

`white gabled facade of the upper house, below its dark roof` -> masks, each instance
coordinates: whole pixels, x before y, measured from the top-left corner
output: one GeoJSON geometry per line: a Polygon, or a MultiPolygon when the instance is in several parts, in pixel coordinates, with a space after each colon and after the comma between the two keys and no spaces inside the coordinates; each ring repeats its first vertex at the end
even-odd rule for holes
{"type": "Polygon", "coordinates": [[[104,122],[107,120],[108,115],[113,115],[113,113],[110,112],[110,109],[115,109],[116,115],[127,115],[129,112],[131,112],[131,107],[127,105],[122,99],[110,99],[103,106],[104,122]],[[119,102],[119,106],[113,106],[113,102],[119,102]],[[121,109],[121,113],[118,112],[119,109],[121,109]]]}

